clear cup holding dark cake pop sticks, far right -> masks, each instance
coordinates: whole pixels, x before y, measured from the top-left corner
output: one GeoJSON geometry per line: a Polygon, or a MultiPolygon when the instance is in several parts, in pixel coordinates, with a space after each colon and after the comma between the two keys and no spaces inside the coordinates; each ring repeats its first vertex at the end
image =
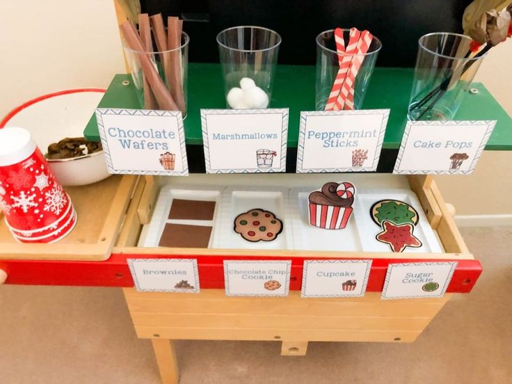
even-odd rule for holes
{"type": "Polygon", "coordinates": [[[409,120],[453,120],[485,57],[472,55],[471,41],[458,33],[419,38],[409,120]]]}

